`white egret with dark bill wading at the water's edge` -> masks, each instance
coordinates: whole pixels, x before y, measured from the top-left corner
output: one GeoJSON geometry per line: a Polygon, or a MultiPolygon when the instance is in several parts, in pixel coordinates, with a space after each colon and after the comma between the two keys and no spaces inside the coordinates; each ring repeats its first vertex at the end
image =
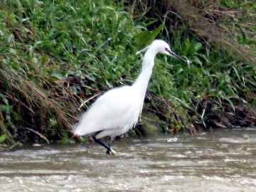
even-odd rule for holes
{"type": "Polygon", "coordinates": [[[112,88],[98,97],[81,115],[81,120],[74,128],[74,136],[91,136],[95,143],[107,149],[107,154],[117,154],[110,145],[115,137],[127,133],[138,122],[156,54],[161,53],[185,61],[163,40],[153,40],[145,49],[141,73],[134,83],[112,88]],[[110,140],[106,145],[100,139],[107,136],[110,140]]]}

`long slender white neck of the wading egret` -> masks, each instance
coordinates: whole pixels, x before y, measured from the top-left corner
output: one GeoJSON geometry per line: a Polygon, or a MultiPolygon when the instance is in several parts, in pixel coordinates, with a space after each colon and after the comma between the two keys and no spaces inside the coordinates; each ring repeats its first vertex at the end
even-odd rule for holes
{"type": "Polygon", "coordinates": [[[132,85],[136,90],[139,91],[142,100],[144,100],[146,95],[146,88],[148,87],[149,79],[152,74],[156,54],[156,51],[151,48],[146,51],[142,61],[141,73],[132,85]]]}

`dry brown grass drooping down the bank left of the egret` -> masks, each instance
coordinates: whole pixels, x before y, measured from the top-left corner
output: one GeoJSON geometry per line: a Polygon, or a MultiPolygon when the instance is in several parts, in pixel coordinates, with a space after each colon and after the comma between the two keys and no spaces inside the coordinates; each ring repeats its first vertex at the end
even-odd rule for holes
{"type": "Polygon", "coordinates": [[[78,102],[62,82],[51,83],[52,88],[47,87],[47,90],[52,91],[47,91],[49,95],[46,95],[46,90],[39,88],[33,81],[24,78],[12,68],[3,66],[0,70],[0,83],[1,93],[6,95],[9,104],[15,106],[19,114],[18,119],[11,120],[18,126],[11,126],[6,122],[6,116],[0,114],[1,129],[5,130],[10,143],[14,142],[13,135],[18,134],[25,126],[32,126],[35,131],[47,135],[47,131],[54,126],[50,119],[56,119],[58,122],[56,131],[72,130],[71,124],[76,121],[78,102]],[[56,92],[59,95],[56,95],[56,92]],[[11,126],[12,130],[5,128],[6,124],[11,126]]]}

